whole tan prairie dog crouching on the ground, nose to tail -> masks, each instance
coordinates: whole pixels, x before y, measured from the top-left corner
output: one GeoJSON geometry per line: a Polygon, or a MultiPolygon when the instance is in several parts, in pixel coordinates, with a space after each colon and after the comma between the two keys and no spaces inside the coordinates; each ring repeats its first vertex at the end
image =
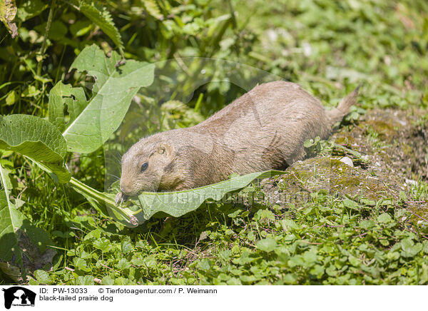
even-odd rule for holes
{"type": "Polygon", "coordinates": [[[232,173],[285,168],[305,156],[307,139],[328,138],[356,98],[357,90],[326,111],[295,83],[255,86],[197,126],[138,141],[123,155],[121,191],[183,190],[217,183],[232,173]],[[159,152],[160,146],[165,152],[159,152]],[[144,162],[148,168],[141,173],[144,162]]]}

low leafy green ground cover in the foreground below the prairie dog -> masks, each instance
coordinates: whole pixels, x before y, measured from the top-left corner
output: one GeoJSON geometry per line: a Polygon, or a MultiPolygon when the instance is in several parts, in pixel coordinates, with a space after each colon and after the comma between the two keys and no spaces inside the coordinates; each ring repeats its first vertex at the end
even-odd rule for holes
{"type": "MultiPolygon", "coordinates": [[[[426,200],[419,189],[412,198],[426,200]]],[[[91,222],[57,234],[65,260],[30,283],[426,284],[428,222],[391,200],[350,202],[312,193],[287,208],[211,203],[136,230],[91,222]]]]}

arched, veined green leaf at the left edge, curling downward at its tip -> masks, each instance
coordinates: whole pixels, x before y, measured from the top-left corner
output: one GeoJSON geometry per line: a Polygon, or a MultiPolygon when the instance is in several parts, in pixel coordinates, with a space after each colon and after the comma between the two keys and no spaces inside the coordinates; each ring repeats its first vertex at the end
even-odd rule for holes
{"type": "Polygon", "coordinates": [[[49,121],[29,115],[0,116],[0,149],[31,158],[61,183],[70,180],[64,166],[66,141],[49,121]]]}

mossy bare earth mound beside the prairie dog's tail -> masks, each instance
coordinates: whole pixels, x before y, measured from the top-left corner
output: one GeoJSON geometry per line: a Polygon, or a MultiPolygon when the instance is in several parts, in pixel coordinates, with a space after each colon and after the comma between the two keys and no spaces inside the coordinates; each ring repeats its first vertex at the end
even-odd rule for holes
{"type": "MultiPolygon", "coordinates": [[[[342,197],[396,200],[400,191],[409,192],[405,178],[423,180],[428,176],[424,160],[428,153],[425,119],[416,119],[407,111],[388,109],[370,111],[365,118],[357,126],[340,128],[331,138],[336,144],[367,157],[364,163],[346,151],[294,163],[287,168],[287,174],[271,178],[263,185],[269,202],[302,205],[310,200],[311,193],[320,190],[342,197]],[[370,131],[379,135],[367,140],[370,131]],[[352,158],[354,167],[340,161],[345,155],[352,158]]],[[[418,213],[424,212],[426,208],[421,210],[419,205],[418,213]]]]}

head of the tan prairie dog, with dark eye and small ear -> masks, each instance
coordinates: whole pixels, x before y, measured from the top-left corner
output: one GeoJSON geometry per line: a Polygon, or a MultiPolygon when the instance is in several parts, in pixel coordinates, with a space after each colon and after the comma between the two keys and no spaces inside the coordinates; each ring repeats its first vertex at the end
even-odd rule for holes
{"type": "MultiPolygon", "coordinates": [[[[138,141],[122,157],[119,195],[137,195],[141,191],[163,188],[161,185],[165,174],[168,174],[168,165],[174,158],[174,148],[168,143],[151,138],[138,141]]],[[[121,198],[116,197],[116,201],[121,198]]]]}

